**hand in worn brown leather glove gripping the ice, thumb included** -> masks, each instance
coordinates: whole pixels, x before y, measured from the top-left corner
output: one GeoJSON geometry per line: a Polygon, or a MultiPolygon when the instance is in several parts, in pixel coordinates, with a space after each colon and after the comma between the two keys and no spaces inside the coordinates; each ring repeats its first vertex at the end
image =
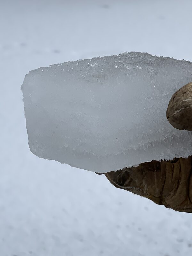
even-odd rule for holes
{"type": "MultiPolygon", "coordinates": [[[[192,83],[173,94],[166,115],[173,127],[192,130],[192,83]]],[[[141,163],[105,176],[117,188],[176,211],[192,213],[192,156],[141,163]]]]}

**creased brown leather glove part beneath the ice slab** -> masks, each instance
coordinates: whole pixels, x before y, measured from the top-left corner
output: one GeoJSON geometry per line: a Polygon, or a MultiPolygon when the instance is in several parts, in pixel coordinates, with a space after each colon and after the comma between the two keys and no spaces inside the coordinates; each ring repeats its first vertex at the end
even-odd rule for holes
{"type": "Polygon", "coordinates": [[[146,197],[180,212],[192,213],[192,156],[151,161],[105,173],[117,188],[146,197]]]}

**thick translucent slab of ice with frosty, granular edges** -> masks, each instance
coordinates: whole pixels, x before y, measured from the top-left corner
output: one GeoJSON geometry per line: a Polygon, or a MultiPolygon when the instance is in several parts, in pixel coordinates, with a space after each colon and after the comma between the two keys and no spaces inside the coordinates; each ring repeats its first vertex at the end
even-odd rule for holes
{"type": "Polygon", "coordinates": [[[22,85],[32,153],[95,172],[192,155],[166,119],[192,63],[130,52],[30,71],[22,85]]]}

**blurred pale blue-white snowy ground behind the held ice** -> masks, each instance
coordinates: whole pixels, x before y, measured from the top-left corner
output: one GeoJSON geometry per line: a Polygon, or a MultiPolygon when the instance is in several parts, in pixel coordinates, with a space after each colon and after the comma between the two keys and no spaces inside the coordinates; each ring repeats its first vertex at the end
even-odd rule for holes
{"type": "Polygon", "coordinates": [[[39,159],[20,86],[54,63],[138,51],[192,61],[192,2],[0,0],[0,255],[192,255],[192,214],[39,159]]]}

